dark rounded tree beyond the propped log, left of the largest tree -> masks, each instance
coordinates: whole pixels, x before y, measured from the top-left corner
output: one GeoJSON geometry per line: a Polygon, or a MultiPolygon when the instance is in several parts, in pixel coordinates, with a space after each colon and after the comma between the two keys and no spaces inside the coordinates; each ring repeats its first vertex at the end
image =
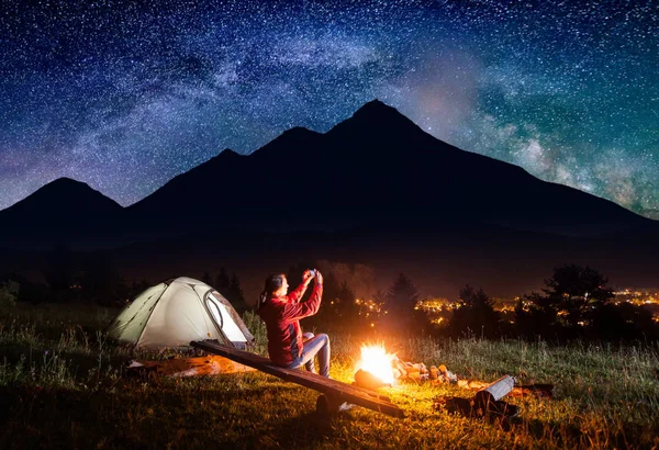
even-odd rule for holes
{"type": "Polygon", "coordinates": [[[494,303],[482,289],[466,285],[454,310],[448,329],[453,336],[474,335],[488,339],[501,335],[501,318],[494,303]]]}

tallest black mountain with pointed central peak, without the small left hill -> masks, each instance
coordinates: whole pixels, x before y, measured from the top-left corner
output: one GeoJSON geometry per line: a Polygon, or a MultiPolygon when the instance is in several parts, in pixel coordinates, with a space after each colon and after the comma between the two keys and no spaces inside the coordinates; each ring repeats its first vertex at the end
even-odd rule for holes
{"type": "MultiPolygon", "coordinates": [[[[297,127],[249,156],[226,149],[127,210],[132,221],[148,224],[172,204],[250,229],[427,221],[597,235],[651,222],[517,166],[460,150],[378,100],[325,134],[297,127]]],[[[168,217],[166,226],[194,228],[185,215],[168,217]]]]}

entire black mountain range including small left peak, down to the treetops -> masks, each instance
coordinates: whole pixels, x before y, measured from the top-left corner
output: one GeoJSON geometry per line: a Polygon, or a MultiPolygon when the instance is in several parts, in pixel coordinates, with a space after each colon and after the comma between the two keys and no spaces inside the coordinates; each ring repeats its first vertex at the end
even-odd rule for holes
{"type": "MultiPolygon", "coordinates": [[[[56,180],[0,211],[0,248],[104,248],[103,260],[153,280],[223,265],[259,284],[303,258],[366,263],[383,279],[405,271],[422,289],[518,293],[566,262],[648,280],[658,228],[444,143],[375,100],[326,133],[294,127],[247,156],[224,149],[125,209],[56,180]]],[[[32,263],[8,251],[7,263],[32,263]]]]}

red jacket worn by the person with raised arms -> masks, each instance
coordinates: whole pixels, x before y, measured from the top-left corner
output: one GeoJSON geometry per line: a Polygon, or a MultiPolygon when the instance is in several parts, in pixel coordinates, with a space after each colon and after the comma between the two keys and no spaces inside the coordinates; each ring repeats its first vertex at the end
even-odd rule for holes
{"type": "Polygon", "coordinates": [[[323,285],[313,288],[311,297],[300,303],[308,283],[302,282],[284,296],[271,296],[258,310],[268,329],[268,353],[277,365],[288,367],[302,355],[300,319],[313,316],[321,307],[323,285]]]}

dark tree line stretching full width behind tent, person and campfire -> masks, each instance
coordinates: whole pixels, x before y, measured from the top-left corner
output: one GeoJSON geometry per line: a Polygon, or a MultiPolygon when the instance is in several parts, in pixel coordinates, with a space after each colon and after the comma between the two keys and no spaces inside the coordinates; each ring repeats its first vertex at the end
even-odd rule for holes
{"type": "MultiPolygon", "coordinates": [[[[300,280],[310,267],[315,267],[314,261],[301,261],[290,267],[287,275],[289,280],[300,280]]],[[[65,249],[47,256],[43,278],[45,282],[35,283],[18,274],[1,277],[0,306],[15,302],[93,302],[120,306],[150,285],[146,280],[129,283],[109,262],[99,258],[74,258],[65,249]]],[[[221,268],[214,274],[202,273],[200,279],[215,288],[239,313],[249,308],[235,272],[221,268]]],[[[658,339],[659,324],[652,312],[644,305],[616,302],[607,282],[602,273],[589,267],[557,267],[544,281],[540,292],[521,296],[514,311],[509,313],[498,311],[482,289],[466,285],[459,299],[442,312],[440,324],[437,324],[437,317],[424,311],[416,286],[403,273],[386,291],[378,291],[370,299],[356,299],[350,285],[338,281],[330,271],[324,273],[323,306],[315,316],[305,318],[303,325],[354,334],[454,338],[658,339]]],[[[311,290],[306,296],[310,293],[311,290]]]]}

